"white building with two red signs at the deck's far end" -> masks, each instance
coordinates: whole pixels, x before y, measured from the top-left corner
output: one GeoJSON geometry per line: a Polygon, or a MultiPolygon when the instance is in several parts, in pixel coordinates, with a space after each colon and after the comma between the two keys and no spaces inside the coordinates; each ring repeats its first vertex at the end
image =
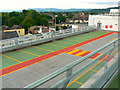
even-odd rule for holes
{"type": "Polygon", "coordinates": [[[120,31],[119,9],[111,9],[104,15],[89,15],[89,26],[95,25],[102,30],[120,31]]]}

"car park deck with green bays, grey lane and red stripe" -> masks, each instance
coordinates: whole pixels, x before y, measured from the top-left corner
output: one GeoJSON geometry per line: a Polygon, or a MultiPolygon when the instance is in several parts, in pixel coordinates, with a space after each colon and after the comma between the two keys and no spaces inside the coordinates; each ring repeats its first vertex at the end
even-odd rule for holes
{"type": "MultiPolygon", "coordinates": [[[[3,87],[22,88],[88,55],[117,37],[118,34],[115,32],[94,31],[2,53],[1,76],[3,78],[3,87]]],[[[81,66],[95,59],[103,52],[90,57],[81,66]]],[[[105,58],[106,56],[101,58],[98,63],[71,81],[67,87],[79,88],[104,66],[105,58]]]]}

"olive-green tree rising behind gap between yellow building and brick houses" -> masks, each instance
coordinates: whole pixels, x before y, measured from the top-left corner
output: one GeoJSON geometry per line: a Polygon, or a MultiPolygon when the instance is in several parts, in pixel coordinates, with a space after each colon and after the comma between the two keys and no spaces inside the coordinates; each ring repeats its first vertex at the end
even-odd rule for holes
{"type": "Polygon", "coordinates": [[[29,28],[30,26],[35,25],[35,22],[34,22],[34,20],[33,20],[32,18],[26,16],[25,19],[24,19],[24,21],[23,21],[20,25],[21,25],[23,28],[25,28],[25,31],[26,31],[26,33],[27,33],[28,28],[29,28]]]}

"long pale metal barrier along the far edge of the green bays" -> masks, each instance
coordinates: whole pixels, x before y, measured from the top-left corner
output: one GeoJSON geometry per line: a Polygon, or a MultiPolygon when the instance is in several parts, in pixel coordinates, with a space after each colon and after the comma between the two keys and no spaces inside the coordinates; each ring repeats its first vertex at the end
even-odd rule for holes
{"type": "Polygon", "coordinates": [[[96,30],[96,27],[93,26],[92,27],[87,26],[81,28],[87,28],[87,30],[81,30],[81,29],[78,30],[73,28],[73,29],[66,29],[55,32],[48,32],[44,34],[36,34],[36,35],[19,37],[19,38],[0,40],[0,51],[5,52],[9,50],[14,50],[34,44],[40,44],[43,42],[52,41],[55,39],[60,39],[60,38],[96,30]]]}

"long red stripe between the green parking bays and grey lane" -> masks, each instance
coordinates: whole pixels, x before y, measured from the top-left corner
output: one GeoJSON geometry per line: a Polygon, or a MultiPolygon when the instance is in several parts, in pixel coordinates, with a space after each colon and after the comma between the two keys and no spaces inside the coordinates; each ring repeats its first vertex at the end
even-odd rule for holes
{"type": "Polygon", "coordinates": [[[22,63],[19,63],[19,64],[16,64],[16,65],[13,65],[13,66],[10,66],[10,67],[7,67],[7,68],[4,68],[2,70],[0,70],[0,72],[2,72],[2,74],[0,74],[0,76],[2,75],[6,75],[8,73],[11,73],[11,72],[14,72],[16,70],[19,70],[19,69],[22,69],[22,68],[25,68],[27,66],[30,66],[32,64],[35,64],[35,63],[38,63],[40,61],[43,61],[45,59],[48,59],[50,57],[53,57],[53,56],[56,56],[58,54],[61,54],[63,52],[66,52],[70,49],[74,49],[74,48],[77,48],[77,47],[80,47],[82,45],[85,45],[87,43],[90,43],[92,41],[95,41],[97,39],[100,39],[100,38],[103,38],[105,36],[108,36],[110,34],[113,34],[114,32],[110,32],[110,33],[107,33],[107,34],[104,34],[104,35],[101,35],[101,36],[98,36],[98,37],[95,37],[93,39],[90,39],[90,40],[87,40],[87,41],[84,41],[84,42],[81,42],[81,43],[78,43],[78,44],[75,44],[73,46],[70,46],[70,47],[66,47],[64,49],[61,49],[61,50],[58,50],[58,51],[55,51],[55,52],[52,52],[52,53],[48,53],[46,55],[43,55],[43,56],[40,56],[40,57],[37,57],[37,58],[34,58],[34,59],[31,59],[31,60],[28,60],[28,61],[25,61],[25,62],[22,62],[22,63]]]}

